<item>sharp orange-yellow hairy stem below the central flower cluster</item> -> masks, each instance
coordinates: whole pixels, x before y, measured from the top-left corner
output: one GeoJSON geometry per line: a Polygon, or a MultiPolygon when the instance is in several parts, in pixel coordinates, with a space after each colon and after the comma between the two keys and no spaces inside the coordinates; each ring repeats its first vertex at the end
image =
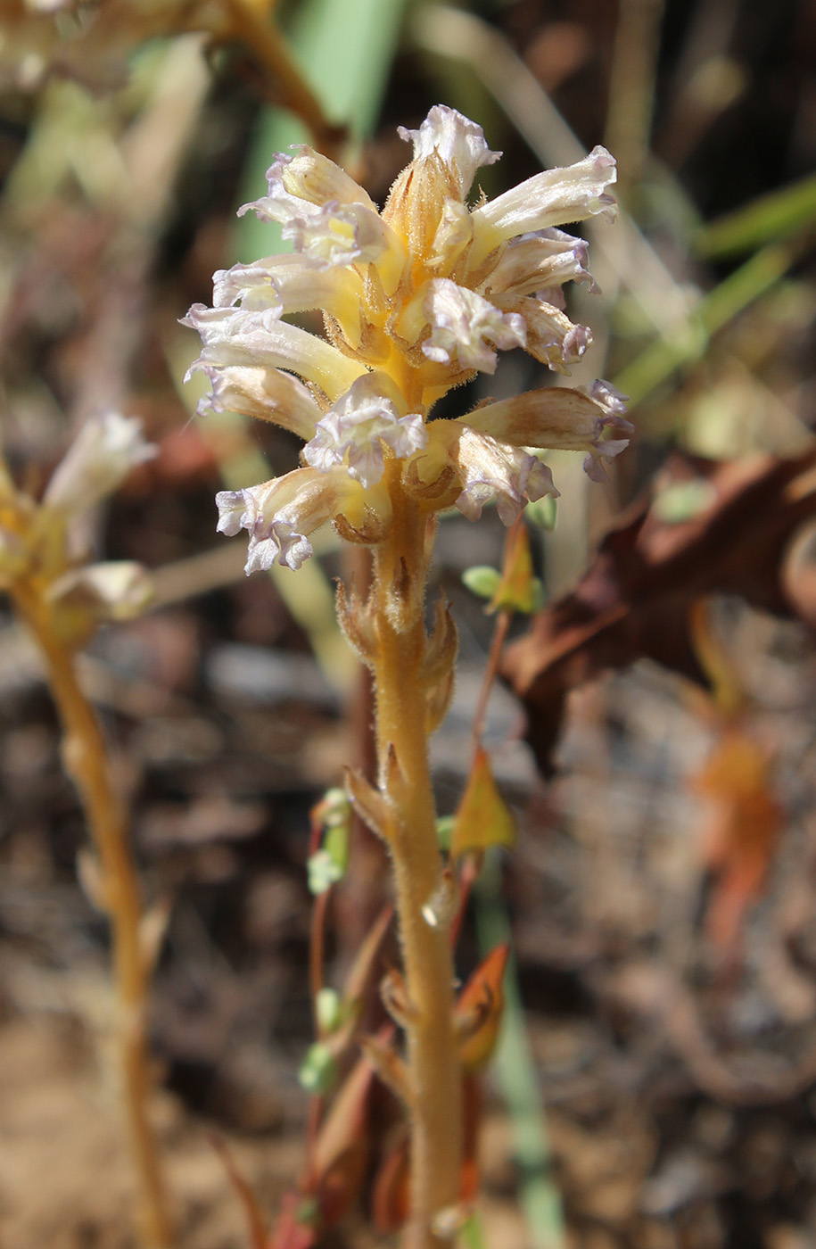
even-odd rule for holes
{"type": "Polygon", "coordinates": [[[425,644],[422,612],[425,560],[424,518],[403,493],[397,462],[388,466],[393,518],[377,550],[372,593],[378,653],[377,752],[381,788],[392,817],[397,912],[408,1020],[410,1087],[409,1249],[443,1242],[434,1217],[459,1199],[462,1158],[462,1073],[453,1029],[453,954],[444,924],[432,926],[423,907],[443,887],[435,808],[428,767],[424,689],[419,666],[425,644]],[[394,610],[394,578],[403,618],[394,610]]]}

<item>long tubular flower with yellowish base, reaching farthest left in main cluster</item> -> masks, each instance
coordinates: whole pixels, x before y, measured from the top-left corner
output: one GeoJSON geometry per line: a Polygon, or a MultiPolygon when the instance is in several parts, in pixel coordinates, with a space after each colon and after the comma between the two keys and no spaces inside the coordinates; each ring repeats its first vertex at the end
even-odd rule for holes
{"type": "Polygon", "coordinates": [[[245,312],[193,304],[181,325],[197,330],[203,342],[203,351],[190,366],[187,377],[200,368],[228,365],[291,368],[317,382],[333,400],[366,371],[364,365],[349,360],[323,338],[278,320],[274,309],[245,312]]]}

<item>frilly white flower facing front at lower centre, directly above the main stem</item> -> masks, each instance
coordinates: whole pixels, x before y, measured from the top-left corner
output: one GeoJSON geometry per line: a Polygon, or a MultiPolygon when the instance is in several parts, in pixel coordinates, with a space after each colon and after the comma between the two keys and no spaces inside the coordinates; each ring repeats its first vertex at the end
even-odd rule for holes
{"type": "Polygon", "coordinates": [[[399,415],[383,375],[358,377],[317,425],[317,433],[303,448],[303,457],[313,468],[327,472],[348,461],[349,476],[368,488],[383,475],[383,446],[391,447],[398,460],[407,458],[424,447],[428,431],[418,412],[399,415]]]}

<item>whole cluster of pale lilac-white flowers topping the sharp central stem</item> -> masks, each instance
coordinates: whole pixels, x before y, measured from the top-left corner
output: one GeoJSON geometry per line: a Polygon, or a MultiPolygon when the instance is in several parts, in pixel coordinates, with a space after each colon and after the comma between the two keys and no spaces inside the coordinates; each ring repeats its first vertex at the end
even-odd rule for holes
{"type": "Polygon", "coordinates": [[[276,156],[267,195],[240,212],[281,224],[293,254],[217,272],[213,307],[193,305],[183,321],[203,342],[190,371],[212,383],[201,412],[228,407],[306,442],[306,467],[218,496],[218,528],[250,535],[247,572],[299,567],[329,520],[349,541],[381,542],[397,481],[429,513],[457,506],[473,520],[494,501],[510,525],[558,493],[537,448],[584,451],[598,480],[631,432],[606,382],[429,421],[450,387],[493,373],[499,351],[522,347],[561,373],[584,355],[591,335],[566,316],[563,286],[594,289],[586,244],[559,227],[614,216],[609,152],[470,209],[478,170],[500,155],[480,127],[437,105],[399,132],[413,160],[382,211],[312,149],[276,156]],[[324,338],[283,320],[309,309],[323,312],[324,338]]]}

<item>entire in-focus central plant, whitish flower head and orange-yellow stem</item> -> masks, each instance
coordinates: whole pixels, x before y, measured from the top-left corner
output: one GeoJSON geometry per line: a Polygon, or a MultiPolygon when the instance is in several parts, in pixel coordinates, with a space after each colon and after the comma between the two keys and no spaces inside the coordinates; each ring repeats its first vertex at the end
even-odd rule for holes
{"type": "Polygon", "coordinates": [[[372,550],[366,597],[341,585],[337,607],[373,673],[378,781],[348,772],[346,788],[393,869],[403,967],[392,1015],[406,1060],[381,1045],[374,1065],[399,1070],[392,1089],[410,1123],[406,1247],[439,1249],[460,1222],[465,1147],[450,939],[458,869],[453,851],[448,863],[440,856],[428,768],[457,653],[444,602],[425,629],[434,522],[444,508],[477,520],[495,503],[513,525],[528,502],[558,493],[535,451],[581,451],[598,478],[631,427],[606,382],[429,420],[453,386],[493,373],[499,351],[522,347],[559,373],[584,355],[590,332],[566,316],[563,287],[591,284],[586,245],[560,226],[614,215],[615,162],[596,147],[470,207],[479,169],[499,156],[479,126],[438,105],[401,135],[413,160],[382,211],[312,149],[277,156],[268,194],[241,211],[279,222],[293,254],[216,274],[215,306],[195,305],[185,323],[203,341],[191,372],[212,383],[201,412],[274,421],[304,442],[302,467],[217,497],[218,528],[250,535],[246,571],[298,568],[329,521],[372,550]],[[309,309],[322,310],[324,337],[287,322],[309,309]]]}

